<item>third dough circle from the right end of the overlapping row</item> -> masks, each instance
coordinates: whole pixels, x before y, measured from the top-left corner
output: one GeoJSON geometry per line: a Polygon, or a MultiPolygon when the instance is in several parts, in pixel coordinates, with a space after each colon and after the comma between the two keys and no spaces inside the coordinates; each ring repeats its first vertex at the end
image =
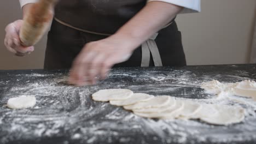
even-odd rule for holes
{"type": "Polygon", "coordinates": [[[199,112],[202,109],[202,105],[196,103],[193,100],[181,100],[184,103],[184,108],[179,111],[178,117],[189,119],[195,113],[199,112]]]}

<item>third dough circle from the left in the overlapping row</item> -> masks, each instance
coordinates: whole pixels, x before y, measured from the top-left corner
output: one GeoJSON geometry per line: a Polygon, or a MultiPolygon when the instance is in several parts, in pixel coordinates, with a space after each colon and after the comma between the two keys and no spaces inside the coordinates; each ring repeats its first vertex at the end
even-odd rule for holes
{"type": "Polygon", "coordinates": [[[146,108],[152,108],[152,107],[162,107],[162,106],[168,105],[170,99],[171,97],[168,95],[159,95],[148,101],[142,101],[134,105],[124,106],[124,109],[134,110],[134,109],[146,109],[146,108]]]}

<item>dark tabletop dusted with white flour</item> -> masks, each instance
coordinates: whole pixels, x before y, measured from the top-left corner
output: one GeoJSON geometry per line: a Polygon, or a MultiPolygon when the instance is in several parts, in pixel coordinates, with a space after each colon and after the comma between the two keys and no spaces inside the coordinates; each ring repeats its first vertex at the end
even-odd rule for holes
{"type": "Polygon", "coordinates": [[[67,77],[67,70],[0,70],[0,143],[256,143],[255,115],[228,126],[167,121],[91,99],[106,88],[210,99],[202,82],[255,81],[256,64],[114,68],[106,80],[84,87],[67,85],[67,77]],[[20,95],[34,95],[37,104],[22,110],[5,106],[20,95]]]}

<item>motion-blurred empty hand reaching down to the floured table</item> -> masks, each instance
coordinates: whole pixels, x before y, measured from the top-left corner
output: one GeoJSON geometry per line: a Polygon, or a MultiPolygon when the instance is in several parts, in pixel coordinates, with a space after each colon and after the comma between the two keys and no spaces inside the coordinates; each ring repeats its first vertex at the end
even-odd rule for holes
{"type": "Polygon", "coordinates": [[[110,68],[129,59],[134,49],[129,40],[115,36],[86,44],[73,62],[69,83],[95,85],[97,76],[105,79],[110,68]]]}

